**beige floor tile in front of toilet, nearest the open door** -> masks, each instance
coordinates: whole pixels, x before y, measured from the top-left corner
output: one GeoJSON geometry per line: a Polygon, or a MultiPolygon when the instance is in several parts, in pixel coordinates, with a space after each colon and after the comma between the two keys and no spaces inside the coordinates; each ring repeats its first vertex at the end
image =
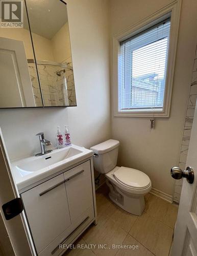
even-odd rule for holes
{"type": "Polygon", "coordinates": [[[130,234],[157,256],[168,255],[173,229],[146,212],[138,217],[130,234]]]}

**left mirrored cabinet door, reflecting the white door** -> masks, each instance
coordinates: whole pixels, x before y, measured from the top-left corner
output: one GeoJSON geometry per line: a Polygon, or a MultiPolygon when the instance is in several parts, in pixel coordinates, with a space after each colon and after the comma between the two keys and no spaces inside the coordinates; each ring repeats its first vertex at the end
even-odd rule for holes
{"type": "Polygon", "coordinates": [[[43,106],[24,2],[21,8],[23,28],[0,28],[0,108],[43,106]]]}

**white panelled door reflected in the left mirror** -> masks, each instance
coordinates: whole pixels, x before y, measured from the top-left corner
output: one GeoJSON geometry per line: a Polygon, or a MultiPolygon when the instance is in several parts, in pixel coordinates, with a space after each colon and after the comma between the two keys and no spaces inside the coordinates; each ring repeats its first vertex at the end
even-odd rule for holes
{"type": "Polygon", "coordinates": [[[0,81],[1,108],[35,106],[23,41],[0,37],[0,81]]]}

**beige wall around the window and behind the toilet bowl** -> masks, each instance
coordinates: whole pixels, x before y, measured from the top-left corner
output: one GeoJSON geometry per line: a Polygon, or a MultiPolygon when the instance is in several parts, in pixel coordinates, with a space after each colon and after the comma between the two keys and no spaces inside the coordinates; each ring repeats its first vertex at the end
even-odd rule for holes
{"type": "MultiPolygon", "coordinates": [[[[125,29],[173,1],[111,0],[112,34],[125,29]]],[[[156,118],[155,130],[150,118],[113,117],[112,136],[120,141],[118,164],[133,167],[149,175],[153,187],[173,194],[174,180],[169,170],[178,164],[184,117],[189,93],[196,45],[195,0],[183,0],[177,57],[169,118],[156,118]]]]}

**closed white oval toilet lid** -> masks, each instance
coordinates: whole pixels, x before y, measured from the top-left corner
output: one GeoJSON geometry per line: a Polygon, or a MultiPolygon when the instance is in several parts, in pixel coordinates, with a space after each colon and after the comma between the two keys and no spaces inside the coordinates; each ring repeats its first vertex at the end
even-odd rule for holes
{"type": "Polygon", "coordinates": [[[118,182],[123,183],[123,185],[125,184],[135,189],[146,188],[151,183],[149,176],[140,172],[140,170],[123,166],[114,172],[114,177],[118,182]]]}

